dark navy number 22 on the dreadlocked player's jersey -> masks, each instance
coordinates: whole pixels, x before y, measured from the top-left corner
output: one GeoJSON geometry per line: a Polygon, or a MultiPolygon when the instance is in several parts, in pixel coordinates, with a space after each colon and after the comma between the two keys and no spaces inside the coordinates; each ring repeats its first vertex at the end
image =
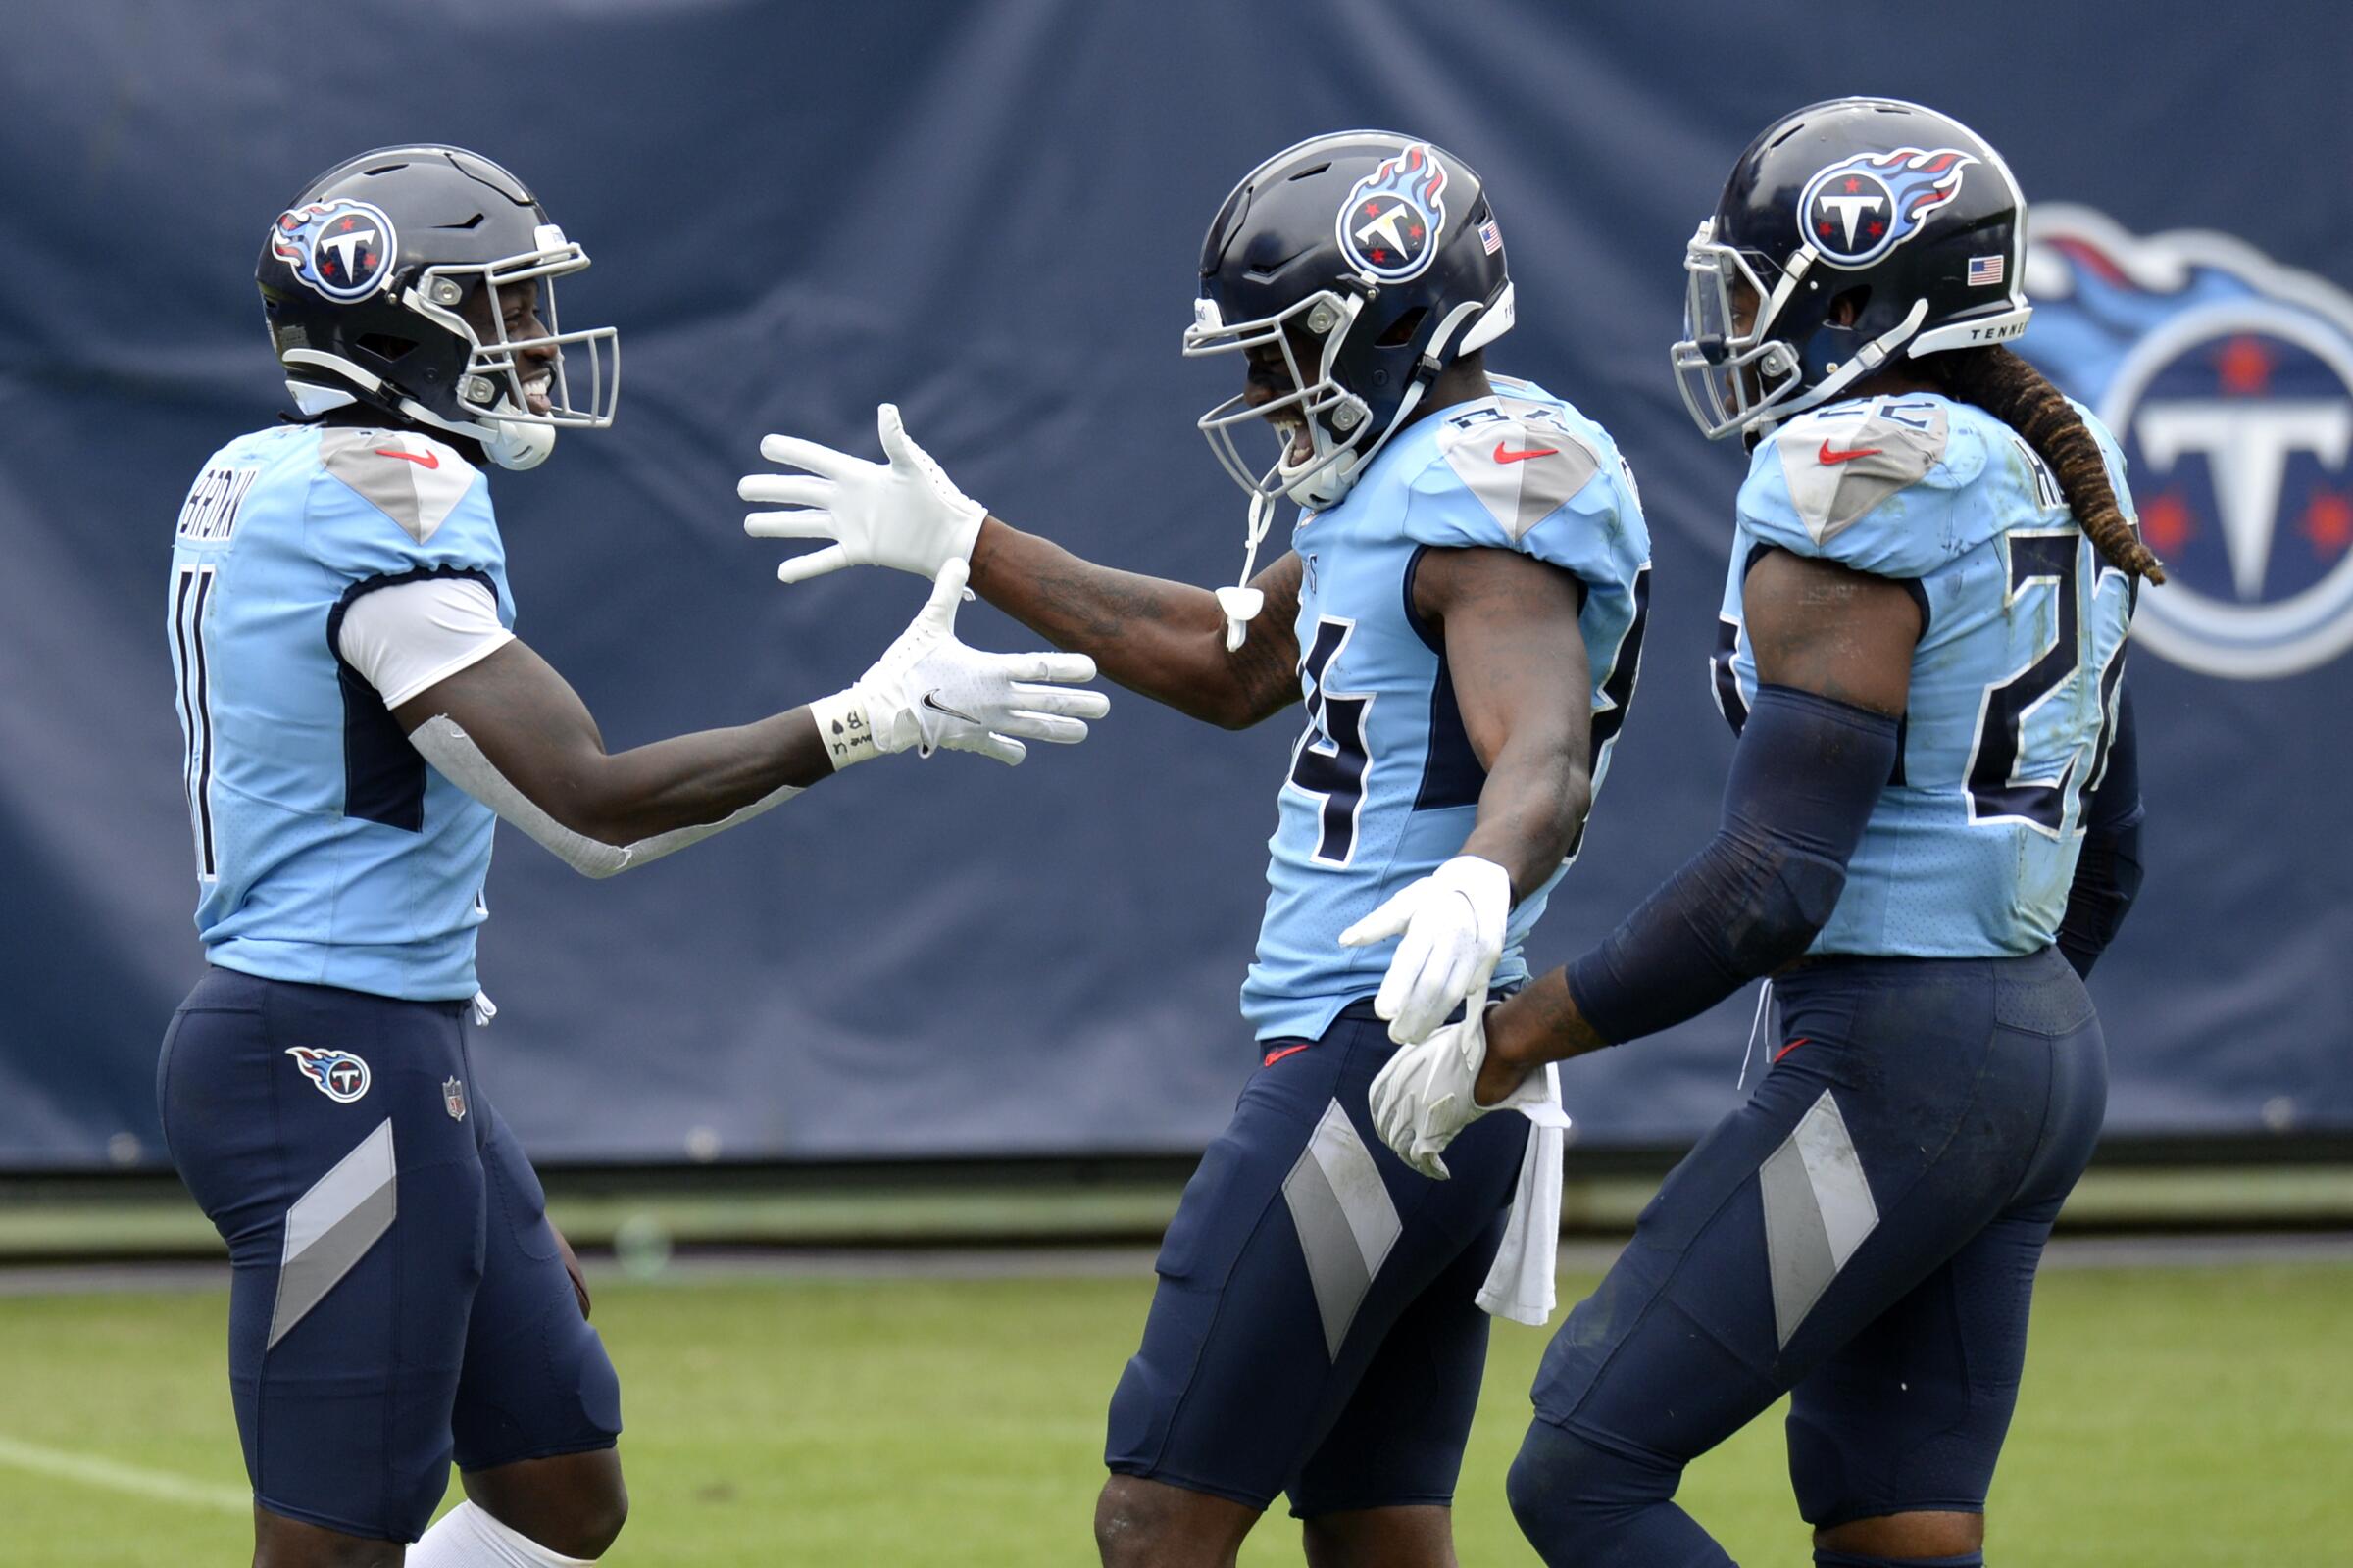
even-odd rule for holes
{"type": "MultiPolygon", "coordinates": [[[[2059,837],[2068,820],[2068,792],[2080,804],[2099,788],[2099,776],[2108,766],[2108,741],[2115,736],[2115,689],[2125,679],[2125,642],[2118,637],[2099,670],[2099,729],[2082,736],[2080,726],[2049,726],[2042,745],[2028,736],[2035,715],[2052,701],[2066,701],[2066,691],[2082,677],[2085,621],[2094,614],[2101,588],[2120,571],[2104,571],[2094,562],[2089,574],[2082,557],[2087,541],[2075,529],[2052,534],[2017,531],[2007,538],[2009,585],[2007,602],[2014,607],[2028,590],[2049,588],[2057,602],[2054,635],[2042,654],[2005,682],[1986,686],[1984,710],[1977,722],[1977,745],[1969,752],[1969,820],[1972,823],[2028,823],[2049,837],[2059,837]],[[2092,592],[2080,592],[2089,576],[2092,592]],[[2085,755],[2089,743],[2089,755],[2085,755]]],[[[2125,578],[2122,592],[2134,592],[2125,578]]],[[[2082,813],[2075,813],[2082,820],[2082,813]]]]}

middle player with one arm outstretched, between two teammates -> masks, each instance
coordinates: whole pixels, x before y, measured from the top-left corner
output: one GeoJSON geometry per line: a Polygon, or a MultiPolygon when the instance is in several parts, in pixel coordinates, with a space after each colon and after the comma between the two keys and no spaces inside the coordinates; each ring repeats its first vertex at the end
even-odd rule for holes
{"type": "MultiPolygon", "coordinates": [[[[1511,324],[1504,237],[1464,160],[1318,136],[1226,197],[1184,336],[1242,371],[1200,418],[1249,496],[1238,588],[1012,529],[889,407],[885,463],[769,437],[767,458],[807,473],[741,487],[791,508],[753,534],[831,541],[786,581],[969,562],[981,597],[1198,719],[1242,729],[1306,701],[1242,985],[1261,1065],[1184,1192],[1111,1399],[1106,1563],[1231,1563],[1278,1493],[1315,1563],[1454,1561],[1487,1347],[1473,1298],[1532,1138],[1489,1121],[1428,1187],[1372,1135],[1365,1091],[1398,1039],[1525,978],[1520,943],[1633,698],[1649,559],[1609,435],[1487,374],[1511,324]],[[1273,433],[1271,463],[1242,456],[1249,430],[1273,433]],[[1282,498],[1304,508],[1292,548],[1254,571],[1282,498]]],[[[1525,1314],[1511,1284],[1487,1300],[1525,1314]]]]}

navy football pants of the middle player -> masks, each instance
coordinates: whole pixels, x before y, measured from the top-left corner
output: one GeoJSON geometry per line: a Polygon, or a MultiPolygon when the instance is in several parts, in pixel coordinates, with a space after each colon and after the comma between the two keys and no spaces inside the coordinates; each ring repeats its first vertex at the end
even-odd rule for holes
{"type": "Polygon", "coordinates": [[[1433,1182],[1372,1133],[1393,1046],[1369,1004],[1259,1044],[1160,1246],[1104,1460],[1259,1509],[1289,1493],[1301,1519],[1452,1502],[1527,1119],[1471,1124],[1433,1182]]]}

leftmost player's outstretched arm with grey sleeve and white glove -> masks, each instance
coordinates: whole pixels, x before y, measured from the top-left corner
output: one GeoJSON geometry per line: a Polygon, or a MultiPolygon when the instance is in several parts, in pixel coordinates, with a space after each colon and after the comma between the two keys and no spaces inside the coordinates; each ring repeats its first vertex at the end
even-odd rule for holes
{"type": "Polygon", "coordinates": [[[506,642],[393,717],[445,778],[591,877],[659,860],[885,752],[969,750],[1016,764],[1024,741],[1073,745],[1111,710],[1075,654],[981,654],[955,639],[965,567],[852,684],[758,724],[607,752],[579,693],[506,642]]]}

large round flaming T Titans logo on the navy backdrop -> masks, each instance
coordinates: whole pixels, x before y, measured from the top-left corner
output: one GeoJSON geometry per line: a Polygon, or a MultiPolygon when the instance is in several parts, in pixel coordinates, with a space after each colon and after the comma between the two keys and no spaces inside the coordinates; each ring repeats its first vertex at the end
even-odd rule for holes
{"type": "Polygon", "coordinates": [[[2035,207],[2019,346],[2099,409],[2165,557],[2134,639],[2275,679],[2353,649],[2353,294],[2231,235],[2035,207]]]}

